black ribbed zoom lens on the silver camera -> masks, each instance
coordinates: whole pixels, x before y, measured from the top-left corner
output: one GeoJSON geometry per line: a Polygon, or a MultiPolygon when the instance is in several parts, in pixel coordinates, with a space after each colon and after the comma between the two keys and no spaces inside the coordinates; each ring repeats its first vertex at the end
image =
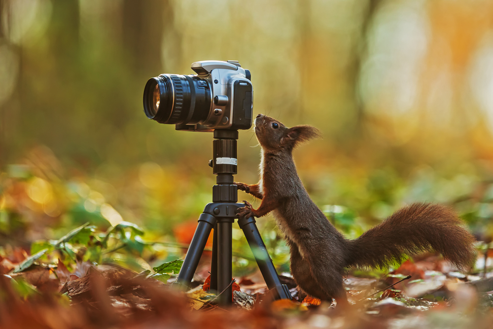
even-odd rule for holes
{"type": "Polygon", "coordinates": [[[198,76],[161,74],[145,84],[143,105],[145,115],[159,123],[201,123],[211,110],[211,87],[198,76]]]}

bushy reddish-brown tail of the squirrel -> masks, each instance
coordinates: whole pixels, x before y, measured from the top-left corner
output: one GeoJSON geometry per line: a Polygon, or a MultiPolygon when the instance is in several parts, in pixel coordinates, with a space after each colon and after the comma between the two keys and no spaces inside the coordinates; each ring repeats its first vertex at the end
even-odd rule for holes
{"type": "Polygon", "coordinates": [[[350,240],[346,262],[347,266],[382,268],[391,261],[402,261],[406,255],[434,250],[466,270],[475,259],[474,240],[453,210],[415,203],[350,240]]]}

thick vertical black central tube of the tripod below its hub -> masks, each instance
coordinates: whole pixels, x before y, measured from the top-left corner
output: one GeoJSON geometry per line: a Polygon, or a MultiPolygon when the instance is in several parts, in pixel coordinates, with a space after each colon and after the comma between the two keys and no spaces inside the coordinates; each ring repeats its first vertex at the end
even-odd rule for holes
{"type": "Polygon", "coordinates": [[[219,303],[232,304],[233,285],[233,222],[234,219],[217,220],[217,292],[219,303]]]}

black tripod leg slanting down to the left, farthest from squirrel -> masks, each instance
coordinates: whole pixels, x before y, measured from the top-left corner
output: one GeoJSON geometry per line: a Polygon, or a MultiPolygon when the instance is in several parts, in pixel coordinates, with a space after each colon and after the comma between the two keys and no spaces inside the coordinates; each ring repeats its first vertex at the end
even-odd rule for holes
{"type": "Polygon", "coordinates": [[[206,247],[207,239],[209,234],[211,234],[211,229],[214,227],[216,219],[210,214],[201,214],[199,217],[199,224],[195,229],[193,234],[192,242],[181,265],[180,273],[176,282],[181,286],[188,287],[192,282],[193,275],[199,264],[200,256],[204,252],[206,247]]]}

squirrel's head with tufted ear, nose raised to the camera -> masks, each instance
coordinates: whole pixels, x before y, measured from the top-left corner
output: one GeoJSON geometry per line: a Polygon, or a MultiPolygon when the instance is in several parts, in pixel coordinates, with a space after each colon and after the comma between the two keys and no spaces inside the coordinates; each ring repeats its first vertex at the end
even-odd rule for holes
{"type": "Polygon", "coordinates": [[[317,128],[300,125],[288,128],[270,116],[258,114],[255,118],[255,135],[264,149],[292,150],[300,143],[320,137],[317,128]]]}

